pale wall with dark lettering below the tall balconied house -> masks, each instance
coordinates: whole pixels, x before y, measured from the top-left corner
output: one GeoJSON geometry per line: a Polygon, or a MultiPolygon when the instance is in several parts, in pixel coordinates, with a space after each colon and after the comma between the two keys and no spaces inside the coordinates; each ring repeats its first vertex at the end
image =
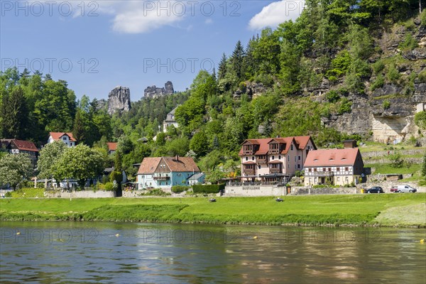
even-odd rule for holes
{"type": "Polygon", "coordinates": [[[244,185],[244,186],[226,186],[225,196],[283,196],[286,187],[277,187],[273,185],[244,185]]]}

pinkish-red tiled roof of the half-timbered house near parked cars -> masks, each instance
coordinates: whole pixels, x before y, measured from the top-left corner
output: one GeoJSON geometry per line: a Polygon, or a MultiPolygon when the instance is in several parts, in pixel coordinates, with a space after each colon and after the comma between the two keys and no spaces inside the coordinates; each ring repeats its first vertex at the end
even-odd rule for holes
{"type": "Polygon", "coordinates": [[[354,165],[361,158],[358,148],[320,149],[307,153],[305,167],[354,165]]]}

